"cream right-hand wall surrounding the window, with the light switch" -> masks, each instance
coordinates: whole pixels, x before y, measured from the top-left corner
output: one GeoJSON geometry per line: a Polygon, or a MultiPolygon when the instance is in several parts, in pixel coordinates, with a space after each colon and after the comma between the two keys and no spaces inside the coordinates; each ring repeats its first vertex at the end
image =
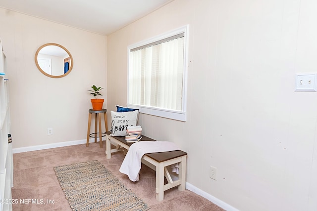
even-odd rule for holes
{"type": "Polygon", "coordinates": [[[126,104],[127,46],[190,24],[188,118],[140,115],[188,152],[187,181],[243,211],[317,210],[317,1],[174,0],[107,36],[107,107],[126,104]],[[209,167],[217,168],[217,180],[209,167]]]}

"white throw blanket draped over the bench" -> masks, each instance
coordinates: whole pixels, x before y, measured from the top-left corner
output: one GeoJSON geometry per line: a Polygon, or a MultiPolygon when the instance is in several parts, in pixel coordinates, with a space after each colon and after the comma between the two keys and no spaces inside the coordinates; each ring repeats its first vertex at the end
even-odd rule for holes
{"type": "Polygon", "coordinates": [[[139,141],[132,144],[126,154],[119,171],[128,175],[133,182],[139,181],[141,158],[146,153],[168,152],[180,150],[173,142],[169,141],[139,141]]]}

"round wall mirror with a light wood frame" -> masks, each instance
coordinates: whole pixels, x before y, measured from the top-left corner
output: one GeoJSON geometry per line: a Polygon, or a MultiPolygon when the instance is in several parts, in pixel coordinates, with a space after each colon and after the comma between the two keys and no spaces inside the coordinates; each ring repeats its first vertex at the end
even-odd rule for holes
{"type": "Polygon", "coordinates": [[[47,43],[36,51],[35,64],[44,75],[61,78],[73,69],[73,57],[62,45],[47,43]]]}

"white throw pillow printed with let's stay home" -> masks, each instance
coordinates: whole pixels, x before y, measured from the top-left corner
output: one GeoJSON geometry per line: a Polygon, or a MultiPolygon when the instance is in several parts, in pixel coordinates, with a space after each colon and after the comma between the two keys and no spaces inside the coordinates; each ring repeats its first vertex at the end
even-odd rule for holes
{"type": "Polygon", "coordinates": [[[127,112],[111,111],[111,134],[112,136],[125,136],[128,126],[137,125],[138,110],[127,112]]]}

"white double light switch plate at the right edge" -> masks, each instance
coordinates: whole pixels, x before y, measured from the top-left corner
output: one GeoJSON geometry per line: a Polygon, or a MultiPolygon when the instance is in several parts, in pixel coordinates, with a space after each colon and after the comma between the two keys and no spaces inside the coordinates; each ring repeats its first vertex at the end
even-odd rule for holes
{"type": "Polygon", "coordinates": [[[296,74],[295,91],[317,91],[316,73],[296,74]]]}

